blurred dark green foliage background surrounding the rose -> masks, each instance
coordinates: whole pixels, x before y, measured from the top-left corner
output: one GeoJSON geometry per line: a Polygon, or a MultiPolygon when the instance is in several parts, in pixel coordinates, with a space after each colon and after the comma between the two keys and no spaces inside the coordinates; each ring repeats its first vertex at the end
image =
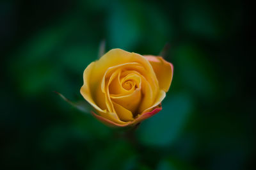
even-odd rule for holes
{"type": "Polygon", "coordinates": [[[252,16],[243,1],[1,1],[0,169],[253,169],[252,16]],[[171,45],[172,86],[136,143],[52,93],[83,99],[103,39],[171,45]]]}

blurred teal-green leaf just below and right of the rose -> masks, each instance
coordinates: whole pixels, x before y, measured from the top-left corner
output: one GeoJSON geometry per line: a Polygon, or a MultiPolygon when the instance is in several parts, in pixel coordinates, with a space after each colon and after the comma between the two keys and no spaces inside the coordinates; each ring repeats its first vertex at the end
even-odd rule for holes
{"type": "Polygon", "coordinates": [[[165,147],[172,145],[179,137],[182,126],[188,120],[188,114],[193,111],[193,101],[186,94],[172,94],[164,100],[161,114],[156,114],[141,124],[138,129],[141,143],[165,147]]]}

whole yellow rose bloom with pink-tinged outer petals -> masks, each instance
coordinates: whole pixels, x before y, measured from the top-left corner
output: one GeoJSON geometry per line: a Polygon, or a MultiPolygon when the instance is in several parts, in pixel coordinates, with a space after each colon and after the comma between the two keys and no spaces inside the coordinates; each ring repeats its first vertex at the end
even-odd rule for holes
{"type": "Polygon", "coordinates": [[[172,75],[172,64],[161,57],[112,49],[84,70],[80,92],[100,121],[136,125],[161,111],[172,75]]]}

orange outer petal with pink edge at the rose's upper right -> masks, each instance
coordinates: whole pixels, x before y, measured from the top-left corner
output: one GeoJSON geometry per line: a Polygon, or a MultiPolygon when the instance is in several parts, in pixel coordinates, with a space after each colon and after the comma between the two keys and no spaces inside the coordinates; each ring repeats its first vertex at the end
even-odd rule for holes
{"type": "Polygon", "coordinates": [[[159,82],[159,88],[167,92],[170,88],[173,75],[173,65],[159,56],[145,56],[152,65],[159,82]]]}

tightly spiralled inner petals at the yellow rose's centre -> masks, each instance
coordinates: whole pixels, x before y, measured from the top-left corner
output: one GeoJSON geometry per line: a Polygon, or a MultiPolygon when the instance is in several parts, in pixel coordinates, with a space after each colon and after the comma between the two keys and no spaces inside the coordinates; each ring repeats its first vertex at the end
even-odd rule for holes
{"type": "Polygon", "coordinates": [[[109,111],[131,112],[133,116],[136,116],[142,97],[141,73],[135,69],[122,68],[108,72],[108,77],[105,83],[106,91],[109,91],[106,93],[109,111]]]}

